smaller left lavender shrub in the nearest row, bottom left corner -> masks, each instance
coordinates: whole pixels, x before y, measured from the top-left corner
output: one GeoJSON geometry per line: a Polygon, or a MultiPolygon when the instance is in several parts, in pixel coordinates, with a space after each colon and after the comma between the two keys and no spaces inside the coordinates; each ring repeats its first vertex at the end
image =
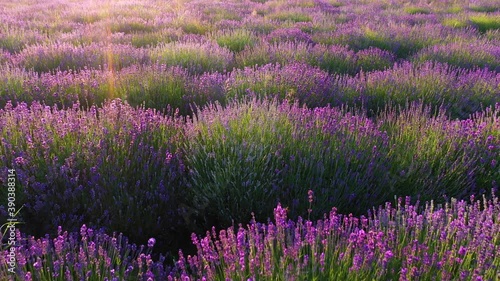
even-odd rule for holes
{"type": "MultiPolygon", "coordinates": [[[[48,235],[35,238],[19,231],[16,235],[18,267],[11,280],[151,280],[154,273],[158,278],[166,278],[164,257],[159,262],[152,260],[154,238],[147,241],[147,247],[138,247],[130,244],[122,233],[107,235],[102,229],[92,229],[85,224],[79,233],[63,232],[59,226],[53,239],[48,235]]],[[[7,274],[6,261],[7,251],[2,249],[2,277],[7,274]]]]}

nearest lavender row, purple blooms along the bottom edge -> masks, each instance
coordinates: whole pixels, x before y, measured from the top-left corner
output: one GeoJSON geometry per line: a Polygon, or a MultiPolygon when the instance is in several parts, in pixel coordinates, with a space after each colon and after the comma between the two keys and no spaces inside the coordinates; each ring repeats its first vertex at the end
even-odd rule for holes
{"type": "MultiPolygon", "coordinates": [[[[332,208],[316,222],[290,220],[278,204],[266,224],[193,234],[196,254],[179,250],[174,266],[165,266],[164,256],[152,259],[154,238],[146,248],[86,225],[80,235],[59,227],[55,238],[18,231],[13,280],[498,280],[499,204],[494,194],[444,207],[406,197],[359,218],[332,208]]],[[[2,276],[6,257],[4,251],[2,276]]]]}

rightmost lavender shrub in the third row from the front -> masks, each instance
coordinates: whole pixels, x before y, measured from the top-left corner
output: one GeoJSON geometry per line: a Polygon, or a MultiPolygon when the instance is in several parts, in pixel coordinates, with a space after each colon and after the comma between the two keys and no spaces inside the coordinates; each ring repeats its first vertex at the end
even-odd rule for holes
{"type": "Polygon", "coordinates": [[[498,102],[498,73],[487,70],[464,70],[447,64],[425,62],[397,64],[385,71],[357,76],[356,89],[344,88],[347,99],[358,99],[366,109],[380,112],[386,105],[422,101],[435,107],[442,105],[454,118],[498,102]],[[350,97],[350,98],[349,98],[350,97]]]}

